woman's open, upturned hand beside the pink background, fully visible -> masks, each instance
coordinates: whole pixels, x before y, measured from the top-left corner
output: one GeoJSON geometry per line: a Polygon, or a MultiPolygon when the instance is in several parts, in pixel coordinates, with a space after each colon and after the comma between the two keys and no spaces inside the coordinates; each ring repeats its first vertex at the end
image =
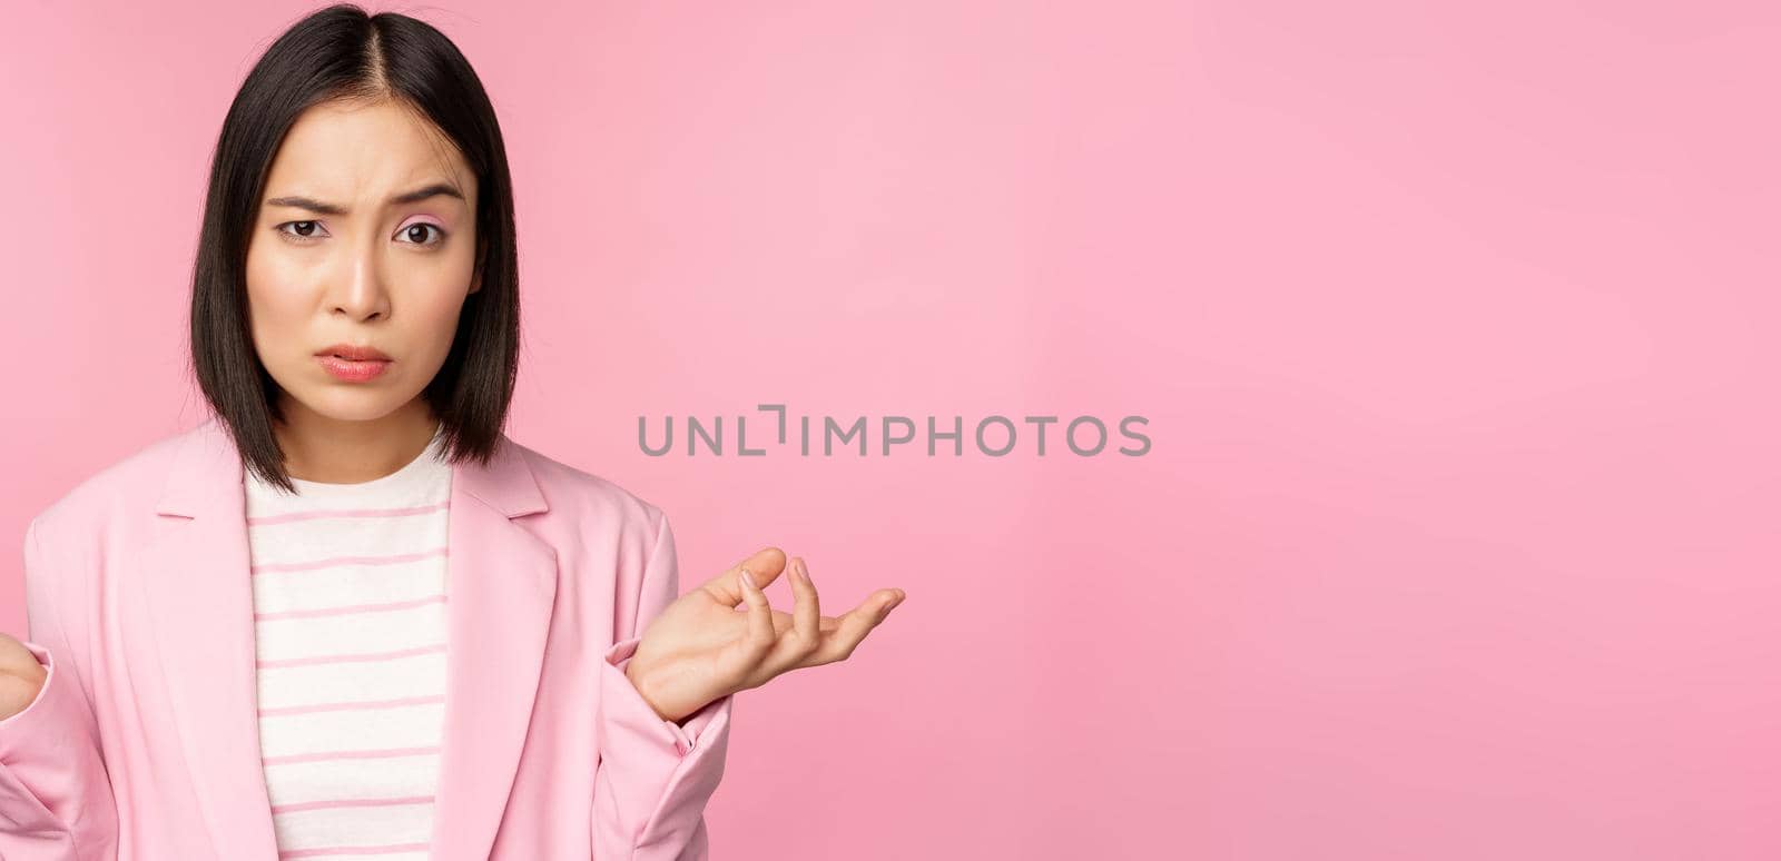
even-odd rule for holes
{"type": "Polygon", "coordinates": [[[679,722],[782,672],[848,660],[905,596],[901,589],[878,589],[839,617],[821,616],[803,559],[787,566],[780,548],[764,548],[655,616],[625,676],[663,720],[679,722]],[[759,589],[746,585],[744,571],[759,589]],[[760,591],[785,571],[794,596],[789,614],[775,610],[760,591]],[[737,612],[743,603],[746,612],[737,612]]]}

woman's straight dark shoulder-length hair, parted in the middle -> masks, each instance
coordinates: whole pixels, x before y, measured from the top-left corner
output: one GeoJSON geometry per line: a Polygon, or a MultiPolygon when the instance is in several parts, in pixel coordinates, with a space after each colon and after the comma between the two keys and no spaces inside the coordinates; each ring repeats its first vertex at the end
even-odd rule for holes
{"type": "Polygon", "coordinates": [[[438,375],[422,397],[440,416],[447,457],[486,464],[500,441],[518,377],[520,297],[513,181],[495,109],[470,62],[431,25],[340,4],[303,18],[253,66],[223,119],[210,162],[192,269],[192,372],[235,438],[244,468],[294,491],[272,436],[278,384],[248,324],[248,240],[285,132],[312,105],[394,100],[436,125],[477,178],[477,262],[438,375]]]}

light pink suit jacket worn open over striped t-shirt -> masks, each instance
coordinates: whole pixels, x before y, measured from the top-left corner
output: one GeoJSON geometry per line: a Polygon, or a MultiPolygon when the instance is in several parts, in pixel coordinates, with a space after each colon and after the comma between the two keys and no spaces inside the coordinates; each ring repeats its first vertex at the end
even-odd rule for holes
{"type": "MultiPolygon", "coordinates": [[[[661,509],[506,436],[454,464],[440,861],[709,857],[732,696],[663,720],[623,672],[679,598],[661,509]]],[[[214,418],[87,479],[25,535],[27,646],[0,720],[0,857],[274,859],[242,463],[214,418]]]]}

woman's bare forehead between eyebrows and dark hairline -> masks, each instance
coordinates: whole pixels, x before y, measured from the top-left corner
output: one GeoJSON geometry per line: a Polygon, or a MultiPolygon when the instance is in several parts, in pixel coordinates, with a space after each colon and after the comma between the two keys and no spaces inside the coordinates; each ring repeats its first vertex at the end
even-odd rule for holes
{"type": "Polygon", "coordinates": [[[329,101],[305,110],[285,133],[265,196],[305,194],[356,208],[436,180],[476,199],[476,173],[426,117],[392,101],[329,101]]]}

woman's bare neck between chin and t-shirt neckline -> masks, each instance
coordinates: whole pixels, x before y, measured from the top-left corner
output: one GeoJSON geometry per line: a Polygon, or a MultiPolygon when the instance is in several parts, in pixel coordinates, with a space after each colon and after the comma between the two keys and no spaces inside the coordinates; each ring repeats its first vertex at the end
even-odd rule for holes
{"type": "Polygon", "coordinates": [[[438,416],[422,398],[372,420],[340,420],[285,402],[285,422],[272,423],[272,436],[285,452],[292,479],[326,484],[360,484],[401,470],[426,450],[438,430],[438,416]]]}

